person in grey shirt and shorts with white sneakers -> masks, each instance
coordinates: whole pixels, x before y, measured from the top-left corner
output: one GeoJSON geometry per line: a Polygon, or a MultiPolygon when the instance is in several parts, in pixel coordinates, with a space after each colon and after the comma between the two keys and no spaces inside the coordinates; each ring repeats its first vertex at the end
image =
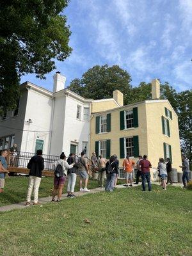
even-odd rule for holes
{"type": "Polygon", "coordinates": [[[89,170],[88,170],[88,163],[87,159],[85,158],[85,152],[81,152],[81,157],[79,157],[79,168],[78,168],[78,173],[80,176],[80,181],[79,181],[79,186],[80,189],[79,191],[84,191],[84,192],[90,192],[90,190],[87,188],[88,185],[88,179],[89,179],[89,170]],[[84,180],[84,189],[82,188],[82,183],[84,180]]]}

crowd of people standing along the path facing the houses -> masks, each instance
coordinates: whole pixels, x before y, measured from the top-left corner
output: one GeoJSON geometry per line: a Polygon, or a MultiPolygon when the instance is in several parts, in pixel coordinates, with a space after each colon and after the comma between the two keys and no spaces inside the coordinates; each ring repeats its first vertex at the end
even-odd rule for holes
{"type": "MultiPolygon", "coordinates": [[[[4,189],[4,178],[5,174],[8,173],[6,157],[8,155],[7,150],[1,150],[0,156],[0,193],[4,189]]],[[[106,191],[113,191],[116,186],[116,182],[120,173],[118,157],[114,154],[107,161],[104,157],[97,156],[93,152],[91,159],[86,157],[85,152],[81,152],[81,156],[78,157],[75,154],[70,154],[66,160],[65,154],[62,152],[60,159],[55,161],[52,167],[54,171],[54,188],[52,189],[52,202],[60,202],[61,195],[63,193],[63,186],[68,179],[67,185],[67,197],[74,198],[74,188],[76,186],[76,178],[79,175],[79,190],[84,192],[90,192],[88,187],[88,179],[90,175],[88,161],[91,162],[92,173],[98,173],[98,184],[100,188],[105,188],[106,191]],[[104,179],[106,178],[106,184],[104,186],[104,179]],[[84,184],[84,186],[83,186],[84,184]],[[84,187],[84,188],[83,188],[84,187]],[[57,200],[55,199],[57,196],[57,200]]],[[[42,150],[37,150],[36,155],[31,157],[28,163],[29,169],[29,184],[28,193],[26,198],[26,205],[31,204],[31,194],[33,192],[33,205],[38,205],[38,189],[42,179],[42,171],[44,170],[44,158],[42,157],[42,150]]],[[[145,191],[146,180],[148,184],[148,191],[152,190],[152,185],[150,182],[150,168],[152,164],[148,161],[147,156],[144,155],[138,157],[138,161],[135,163],[131,157],[127,155],[123,162],[123,172],[125,176],[125,187],[132,187],[133,180],[133,170],[136,170],[136,182],[134,184],[139,184],[141,177],[142,190],[145,191]]],[[[182,182],[184,188],[187,187],[189,182],[189,163],[185,156],[182,156],[182,182]]],[[[170,158],[164,161],[163,158],[159,158],[159,163],[157,164],[157,171],[159,173],[159,179],[161,179],[161,186],[166,190],[168,184],[173,184],[172,182],[172,163],[170,158]]]]}

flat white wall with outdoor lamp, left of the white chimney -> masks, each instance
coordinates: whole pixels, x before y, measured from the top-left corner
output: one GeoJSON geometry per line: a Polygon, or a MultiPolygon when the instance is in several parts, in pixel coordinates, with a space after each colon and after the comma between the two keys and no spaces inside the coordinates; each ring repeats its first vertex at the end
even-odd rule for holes
{"type": "Polygon", "coordinates": [[[36,139],[44,140],[43,153],[49,154],[51,134],[52,97],[36,92],[33,88],[28,90],[24,131],[22,134],[21,151],[35,152],[36,139]],[[32,123],[26,121],[31,119],[32,123]]]}

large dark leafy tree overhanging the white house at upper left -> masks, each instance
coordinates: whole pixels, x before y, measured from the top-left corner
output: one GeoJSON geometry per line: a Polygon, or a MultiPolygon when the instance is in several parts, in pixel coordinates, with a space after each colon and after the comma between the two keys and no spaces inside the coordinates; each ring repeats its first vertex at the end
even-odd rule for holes
{"type": "Polygon", "coordinates": [[[0,2],[0,102],[2,109],[15,108],[20,76],[45,74],[54,59],[65,60],[70,30],[61,15],[69,0],[15,0],[0,2]]]}

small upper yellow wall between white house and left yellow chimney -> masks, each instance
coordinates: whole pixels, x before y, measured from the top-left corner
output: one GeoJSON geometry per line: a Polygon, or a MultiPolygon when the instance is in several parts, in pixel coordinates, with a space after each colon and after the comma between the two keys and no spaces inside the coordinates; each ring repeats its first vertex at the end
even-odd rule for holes
{"type": "Polygon", "coordinates": [[[92,113],[118,108],[118,103],[112,99],[94,100],[92,102],[92,113]]]}

